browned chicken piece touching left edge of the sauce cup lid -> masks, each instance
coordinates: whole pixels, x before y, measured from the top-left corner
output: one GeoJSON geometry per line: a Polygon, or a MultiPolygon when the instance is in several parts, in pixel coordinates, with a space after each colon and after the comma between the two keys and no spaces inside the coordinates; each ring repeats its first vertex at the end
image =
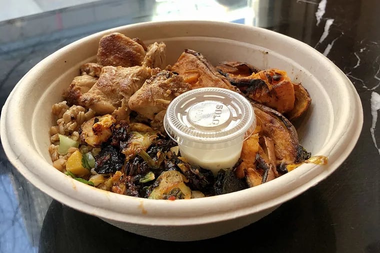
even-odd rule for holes
{"type": "Polygon", "coordinates": [[[165,110],[176,96],[191,89],[181,76],[163,70],[146,80],[142,87],[129,99],[132,111],[153,120],[160,111],[165,110]]]}

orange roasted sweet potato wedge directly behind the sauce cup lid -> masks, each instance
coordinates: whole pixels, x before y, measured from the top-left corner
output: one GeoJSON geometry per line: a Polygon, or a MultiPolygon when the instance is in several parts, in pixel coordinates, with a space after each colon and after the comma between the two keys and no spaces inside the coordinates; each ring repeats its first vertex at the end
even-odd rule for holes
{"type": "Polygon", "coordinates": [[[218,73],[202,54],[190,49],[184,50],[171,70],[179,73],[193,89],[218,87],[237,91],[237,88],[218,73]]]}

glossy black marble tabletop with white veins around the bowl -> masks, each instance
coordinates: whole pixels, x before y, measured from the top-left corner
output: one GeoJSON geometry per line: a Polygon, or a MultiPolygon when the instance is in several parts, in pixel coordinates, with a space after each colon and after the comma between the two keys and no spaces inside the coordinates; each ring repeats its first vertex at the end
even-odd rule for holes
{"type": "Polygon", "coordinates": [[[330,177],[262,220],[200,242],[137,236],[51,200],[10,165],[0,146],[0,253],[380,252],[379,13],[378,0],[103,0],[0,22],[0,106],[31,67],[78,38],[180,18],[261,26],[315,47],[354,83],[364,111],[356,147],[330,177]]]}

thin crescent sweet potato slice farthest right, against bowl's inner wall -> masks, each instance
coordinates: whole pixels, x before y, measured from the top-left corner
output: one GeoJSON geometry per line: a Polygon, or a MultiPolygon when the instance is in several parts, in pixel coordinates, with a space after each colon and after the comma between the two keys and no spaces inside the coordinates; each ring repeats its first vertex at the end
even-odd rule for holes
{"type": "Polygon", "coordinates": [[[293,83],[295,102],[291,111],[285,114],[288,120],[299,118],[307,111],[311,104],[311,98],[307,90],[300,83],[293,83]]]}

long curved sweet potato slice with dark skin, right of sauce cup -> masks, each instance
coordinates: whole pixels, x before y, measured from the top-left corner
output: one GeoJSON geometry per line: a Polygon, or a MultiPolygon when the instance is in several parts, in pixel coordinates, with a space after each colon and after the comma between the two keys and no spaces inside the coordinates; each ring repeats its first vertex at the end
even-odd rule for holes
{"type": "Polygon", "coordinates": [[[302,147],[294,126],[277,111],[257,103],[252,105],[257,124],[261,124],[261,134],[273,141],[276,167],[298,162],[302,147]]]}

